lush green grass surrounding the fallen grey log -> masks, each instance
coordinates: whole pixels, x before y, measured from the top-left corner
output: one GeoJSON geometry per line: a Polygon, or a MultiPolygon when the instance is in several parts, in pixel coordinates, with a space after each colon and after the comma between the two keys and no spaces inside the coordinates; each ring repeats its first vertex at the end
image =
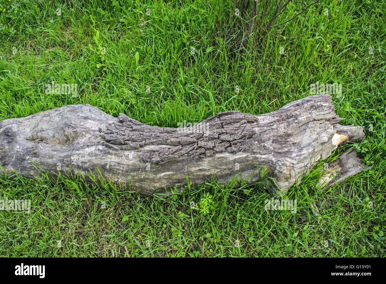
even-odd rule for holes
{"type": "MultiPolygon", "coordinates": [[[[108,184],[2,176],[1,198],[30,199],[32,212],[0,211],[0,256],[385,256],[383,0],[322,1],[271,30],[262,49],[239,54],[239,3],[47,2],[0,1],[0,120],[87,103],[176,127],[222,111],[271,112],[309,95],[312,83],[341,83],[333,99],[341,123],[363,126],[366,139],[330,160],[356,147],[372,168],[326,192],[320,163],[288,190],[296,213],[266,211],[261,184],[212,180],[164,200],[108,184]],[[77,83],[78,95],[46,94],[52,81],[77,83]],[[207,212],[192,201],[207,201],[207,212]]],[[[288,13],[278,22],[295,8],[288,13]]]]}

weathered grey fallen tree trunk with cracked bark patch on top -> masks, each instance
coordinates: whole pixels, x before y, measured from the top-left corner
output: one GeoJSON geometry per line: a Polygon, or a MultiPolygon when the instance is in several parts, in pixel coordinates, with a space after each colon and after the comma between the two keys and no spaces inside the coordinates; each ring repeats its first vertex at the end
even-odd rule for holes
{"type": "MultiPolygon", "coordinates": [[[[361,127],[341,126],[329,95],[313,95],[260,116],[228,111],[189,128],[149,126],[91,105],[68,105],[0,122],[0,165],[27,177],[36,167],[63,175],[97,168],[107,180],[149,195],[235,174],[254,183],[266,167],[284,193],[361,127]],[[257,173],[256,173],[257,172],[257,173]]],[[[91,179],[87,180],[92,182],[91,179]]]]}

